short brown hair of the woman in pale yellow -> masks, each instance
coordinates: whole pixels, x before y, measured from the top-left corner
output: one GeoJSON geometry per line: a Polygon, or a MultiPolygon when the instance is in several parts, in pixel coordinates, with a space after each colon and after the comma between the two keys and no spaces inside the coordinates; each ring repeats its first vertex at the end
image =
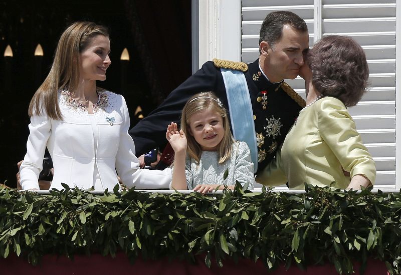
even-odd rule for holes
{"type": "Polygon", "coordinates": [[[369,67],[362,47],[347,36],[326,36],[307,54],[312,84],[323,96],[354,106],[369,85],[369,67]]]}

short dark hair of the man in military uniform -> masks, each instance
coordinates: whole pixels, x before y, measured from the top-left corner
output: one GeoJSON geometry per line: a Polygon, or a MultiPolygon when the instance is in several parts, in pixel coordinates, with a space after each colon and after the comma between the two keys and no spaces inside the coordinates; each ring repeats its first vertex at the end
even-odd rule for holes
{"type": "Polygon", "coordinates": [[[270,47],[274,47],[281,39],[285,25],[301,33],[308,32],[305,21],[296,14],[287,11],[272,12],[266,16],[260,28],[259,45],[266,41],[270,47]]]}

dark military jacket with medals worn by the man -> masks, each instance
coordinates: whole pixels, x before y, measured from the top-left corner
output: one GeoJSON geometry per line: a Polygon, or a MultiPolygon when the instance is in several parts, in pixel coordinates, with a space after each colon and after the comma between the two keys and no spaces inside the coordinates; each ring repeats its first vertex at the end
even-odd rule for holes
{"type": "MultiPolygon", "coordinates": [[[[254,114],[260,171],[274,158],[299,111],[305,106],[305,101],[287,83],[269,82],[259,69],[259,59],[248,64],[248,71],[244,74],[254,114]]],[[[167,125],[171,122],[179,123],[186,101],[194,94],[206,91],[214,92],[228,110],[223,76],[220,68],[212,61],[206,62],[173,90],[157,109],[129,131],[135,142],[136,155],[142,155],[152,148],[164,147],[167,143],[167,125]]]]}

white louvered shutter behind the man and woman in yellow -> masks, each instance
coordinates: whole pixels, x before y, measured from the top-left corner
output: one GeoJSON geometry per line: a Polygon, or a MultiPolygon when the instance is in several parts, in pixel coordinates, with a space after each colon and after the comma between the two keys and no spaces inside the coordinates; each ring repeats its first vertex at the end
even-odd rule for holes
{"type": "MultiPolygon", "coordinates": [[[[243,62],[259,56],[259,29],[266,15],[283,10],[305,20],[310,46],[324,35],[338,34],[354,38],[365,50],[371,89],[349,112],[376,163],[375,189],[399,189],[401,184],[395,185],[395,0],[243,0],[243,62]]],[[[301,78],[286,82],[305,98],[301,78]]]]}

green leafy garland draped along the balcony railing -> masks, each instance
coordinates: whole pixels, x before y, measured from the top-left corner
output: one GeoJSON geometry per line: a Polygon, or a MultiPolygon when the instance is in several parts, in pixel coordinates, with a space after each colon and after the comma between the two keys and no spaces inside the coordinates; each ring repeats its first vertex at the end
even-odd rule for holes
{"type": "Polygon", "coordinates": [[[208,266],[227,257],[261,259],[268,269],[331,262],[340,274],[351,273],[354,261],[363,269],[370,257],[399,273],[400,193],[305,187],[289,194],[237,185],[213,196],[0,188],[0,255],[14,252],[35,265],[45,254],[122,250],[130,260],[193,260],[204,253],[208,266]]]}

